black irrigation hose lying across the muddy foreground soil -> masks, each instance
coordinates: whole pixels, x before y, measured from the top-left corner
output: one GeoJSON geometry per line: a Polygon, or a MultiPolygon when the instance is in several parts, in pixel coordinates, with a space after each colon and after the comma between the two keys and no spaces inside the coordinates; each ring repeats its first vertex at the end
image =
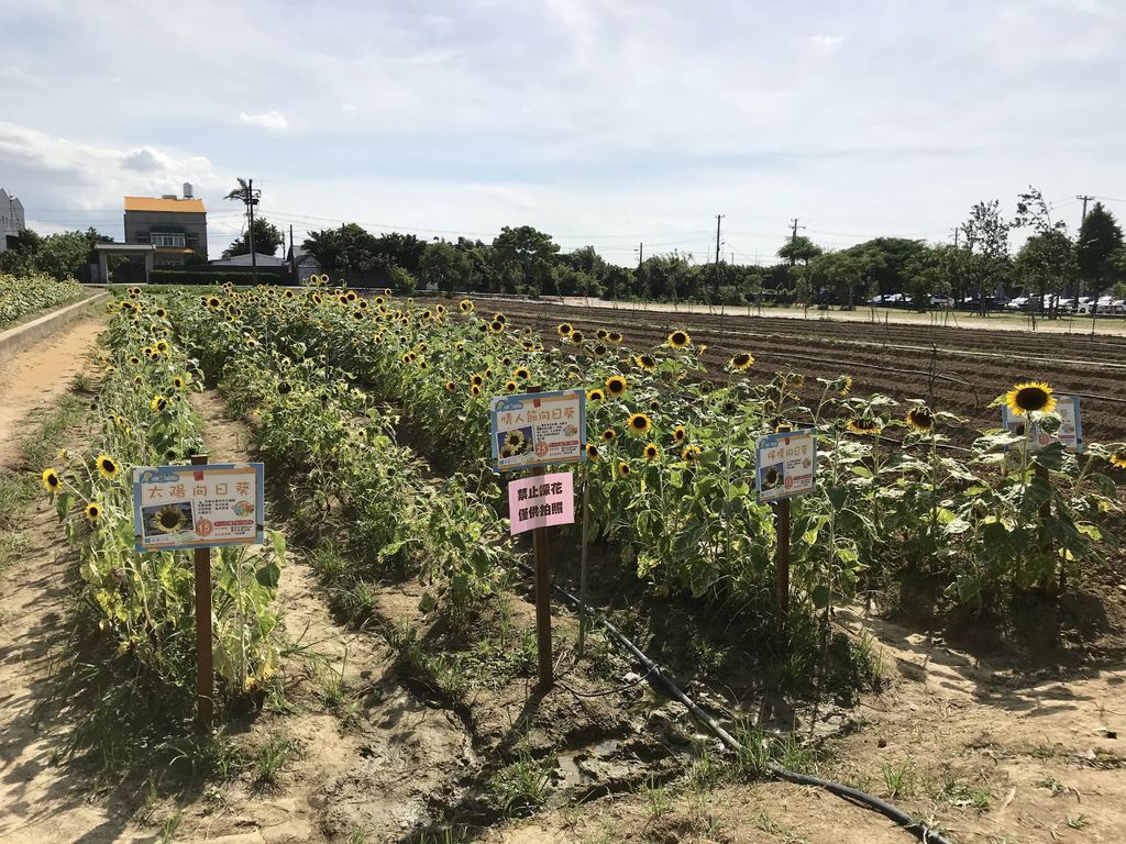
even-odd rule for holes
{"type": "MultiPolygon", "coordinates": [[[[558,584],[554,585],[555,591],[562,596],[562,599],[574,607],[575,609],[582,609],[582,602],[578,598],[572,595],[565,589],[558,584]]],[[[680,688],[669,679],[669,676],[661,671],[661,666],[655,662],[650,659],[636,645],[633,644],[620,630],[618,630],[613,623],[610,623],[602,616],[593,612],[590,608],[587,608],[587,612],[596,622],[602,626],[610,636],[613,636],[619,645],[622,645],[626,650],[633,654],[634,658],[646,670],[647,676],[656,677],[661,681],[662,685],[668,689],[669,693],[683,703],[688,711],[691,712],[699,721],[701,721],[708,729],[711,729],[721,742],[723,742],[730,749],[736,753],[743,751],[743,746],[740,744],[739,739],[735,738],[731,733],[724,729],[723,725],[716,721],[711,715],[704,711],[691,698],[685,694],[680,688]]],[[[926,824],[908,815],[902,809],[892,806],[878,797],[873,797],[872,794],[865,793],[858,789],[850,788],[839,782],[833,782],[832,780],[823,780],[820,776],[810,776],[807,774],[796,773],[794,771],[787,771],[774,762],[769,763],[767,770],[779,780],[786,780],[787,782],[793,782],[798,785],[815,785],[829,791],[837,797],[841,797],[846,800],[855,802],[867,809],[873,809],[878,811],[886,818],[894,820],[901,827],[913,835],[920,836],[920,841],[923,844],[951,844],[951,842],[944,837],[941,834],[936,833],[933,829],[929,828],[926,824]]]]}

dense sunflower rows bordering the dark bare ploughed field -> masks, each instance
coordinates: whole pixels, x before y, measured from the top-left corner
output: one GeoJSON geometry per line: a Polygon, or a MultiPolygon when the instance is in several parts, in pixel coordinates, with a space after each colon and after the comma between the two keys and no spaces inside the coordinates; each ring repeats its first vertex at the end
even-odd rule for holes
{"type": "MultiPolygon", "coordinates": [[[[422,304],[327,287],[184,294],[170,307],[204,366],[240,372],[248,404],[270,412],[277,396],[309,392],[309,401],[333,403],[350,390],[334,406],[347,424],[377,417],[383,431],[409,430],[495,523],[504,512],[484,470],[489,399],[586,389],[580,481],[590,536],[609,541],[658,594],[769,611],[777,535],[753,493],[754,443],[790,428],[819,440],[817,487],[795,500],[792,531],[794,585],[812,605],[895,577],[938,576],[950,596],[981,609],[1063,583],[1114,544],[1106,522],[1119,503],[1107,467],[1126,463],[1120,445],[1089,443],[1076,456],[994,430],[968,454],[947,450],[944,430],[963,421],[942,408],[856,396],[844,375],[819,379],[819,401],[805,404],[799,374],[753,377],[749,353],[733,354],[732,378],[716,384],[700,362],[704,347],[683,330],[635,349],[614,326],[584,336],[563,323],[542,336],[468,299],[422,304]],[[405,425],[394,425],[397,415],[405,425]]],[[[1046,384],[1017,385],[998,402],[1044,430],[1060,424],[1046,384]]],[[[305,454],[313,472],[324,460],[354,468],[332,443],[316,445],[315,428],[298,431],[278,448],[305,454]],[[302,450],[307,442],[312,454],[302,450]]]]}

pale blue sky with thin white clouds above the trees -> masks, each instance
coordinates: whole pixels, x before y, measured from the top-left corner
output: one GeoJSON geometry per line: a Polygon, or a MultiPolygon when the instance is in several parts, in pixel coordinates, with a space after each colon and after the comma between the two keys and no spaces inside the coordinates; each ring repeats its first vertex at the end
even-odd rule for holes
{"type": "MultiPolygon", "coordinates": [[[[120,236],[191,181],[216,251],[238,176],[298,240],[530,224],[619,263],[948,240],[1029,183],[1126,198],[1126,2],[0,0],[0,186],[120,236]]],[[[1108,207],[1121,216],[1126,201],[1108,207]]],[[[1019,235],[1015,241],[1019,241],[1019,235]]]]}

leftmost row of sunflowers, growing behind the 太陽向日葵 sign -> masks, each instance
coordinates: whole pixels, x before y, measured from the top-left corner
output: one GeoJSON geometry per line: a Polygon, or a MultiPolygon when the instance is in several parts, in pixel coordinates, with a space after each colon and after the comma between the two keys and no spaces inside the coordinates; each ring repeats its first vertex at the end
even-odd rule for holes
{"type": "MultiPolygon", "coordinates": [[[[190,396],[202,389],[203,372],[177,343],[168,312],[138,299],[134,289],[109,306],[91,442],[61,451],[42,474],[78,550],[83,625],[111,650],[109,662],[119,671],[110,676],[133,679],[101,699],[95,720],[145,702],[159,709],[179,701],[187,713],[194,701],[190,551],[135,549],[132,470],[187,463],[202,450],[203,422],[190,396]]],[[[169,506],[148,518],[151,530],[175,533],[182,513],[169,506]]],[[[276,537],[260,551],[223,548],[214,555],[215,667],[226,698],[252,692],[276,671],[283,553],[276,537]]]]}

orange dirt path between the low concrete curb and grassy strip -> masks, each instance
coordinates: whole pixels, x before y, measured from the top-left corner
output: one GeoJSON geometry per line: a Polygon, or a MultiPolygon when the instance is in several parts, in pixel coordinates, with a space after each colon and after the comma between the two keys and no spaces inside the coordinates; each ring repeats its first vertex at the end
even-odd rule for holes
{"type": "Polygon", "coordinates": [[[19,421],[70,388],[104,326],[104,317],[79,320],[0,365],[0,466],[10,466],[16,456],[19,421]]]}

